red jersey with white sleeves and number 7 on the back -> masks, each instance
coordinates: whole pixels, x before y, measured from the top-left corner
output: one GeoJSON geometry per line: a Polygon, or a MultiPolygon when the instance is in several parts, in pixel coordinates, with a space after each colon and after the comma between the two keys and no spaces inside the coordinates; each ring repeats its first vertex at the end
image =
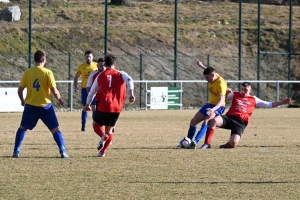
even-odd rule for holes
{"type": "Polygon", "coordinates": [[[123,71],[107,68],[100,73],[88,94],[87,104],[90,104],[93,97],[99,90],[99,104],[97,109],[101,112],[120,113],[123,109],[126,97],[126,85],[133,90],[132,78],[123,71]]]}

